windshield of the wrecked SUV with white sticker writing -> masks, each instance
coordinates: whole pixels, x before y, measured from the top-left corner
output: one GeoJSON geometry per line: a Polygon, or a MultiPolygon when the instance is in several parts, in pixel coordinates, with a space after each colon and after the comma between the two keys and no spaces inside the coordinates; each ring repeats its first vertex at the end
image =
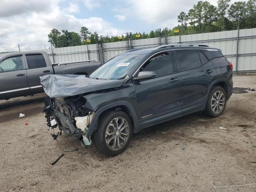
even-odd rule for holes
{"type": "Polygon", "coordinates": [[[107,80],[121,79],[128,74],[142,57],[144,57],[143,54],[116,56],[90,74],[90,78],[107,80]]]}

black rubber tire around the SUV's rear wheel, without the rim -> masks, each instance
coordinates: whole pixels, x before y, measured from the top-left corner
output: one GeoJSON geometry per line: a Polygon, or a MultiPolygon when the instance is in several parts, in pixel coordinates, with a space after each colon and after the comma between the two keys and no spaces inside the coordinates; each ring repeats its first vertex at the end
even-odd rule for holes
{"type": "Polygon", "coordinates": [[[227,94],[226,94],[226,91],[220,87],[220,86],[214,86],[212,87],[212,90],[210,91],[210,94],[209,94],[209,97],[208,97],[208,100],[207,100],[207,104],[206,104],[206,108],[204,110],[204,113],[210,117],[218,117],[220,116],[223,111],[225,110],[225,107],[226,107],[226,102],[227,102],[227,94]],[[212,101],[212,97],[213,95],[216,93],[216,92],[222,92],[224,94],[224,103],[223,103],[223,108],[221,110],[219,110],[219,112],[214,112],[212,110],[212,102],[214,104],[214,101],[212,101]]]}

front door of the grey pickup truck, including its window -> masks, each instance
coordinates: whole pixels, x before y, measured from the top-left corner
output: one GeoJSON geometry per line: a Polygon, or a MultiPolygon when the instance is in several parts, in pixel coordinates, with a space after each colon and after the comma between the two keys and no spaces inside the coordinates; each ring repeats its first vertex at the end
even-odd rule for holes
{"type": "Polygon", "coordinates": [[[30,94],[26,66],[22,54],[0,60],[0,99],[30,94]]]}

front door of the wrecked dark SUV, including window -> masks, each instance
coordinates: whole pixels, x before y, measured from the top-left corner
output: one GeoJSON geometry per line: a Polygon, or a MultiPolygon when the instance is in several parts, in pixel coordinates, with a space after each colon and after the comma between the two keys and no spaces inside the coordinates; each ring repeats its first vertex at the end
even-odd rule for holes
{"type": "MultiPolygon", "coordinates": [[[[181,107],[181,81],[174,71],[175,62],[170,51],[160,52],[140,68],[154,71],[155,78],[134,81],[136,112],[139,119],[148,118],[181,107]]],[[[138,74],[137,74],[138,75],[138,74]]]]}

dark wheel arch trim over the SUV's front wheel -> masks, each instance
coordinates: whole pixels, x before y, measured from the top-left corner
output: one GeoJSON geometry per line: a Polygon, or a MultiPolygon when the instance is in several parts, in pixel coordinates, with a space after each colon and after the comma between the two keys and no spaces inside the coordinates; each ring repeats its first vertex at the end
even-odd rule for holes
{"type": "Polygon", "coordinates": [[[98,125],[98,119],[99,119],[100,114],[102,114],[104,111],[106,111],[110,108],[116,107],[116,106],[126,106],[129,110],[129,112],[130,112],[130,115],[133,118],[134,128],[138,127],[138,118],[137,118],[137,115],[134,111],[134,108],[132,107],[132,104],[130,104],[130,102],[125,101],[125,100],[116,101],[116,102],[113,102],[113,103],[106,104],[106,105],[102,106],[101,108],[99,108],[95,112],[94,117],[92,118],[92,122],[89,125],[89,129],[86,133],[86,136],[91,136],[93,134],[94,128],[96,128],[97,125],[98,125]]]}

